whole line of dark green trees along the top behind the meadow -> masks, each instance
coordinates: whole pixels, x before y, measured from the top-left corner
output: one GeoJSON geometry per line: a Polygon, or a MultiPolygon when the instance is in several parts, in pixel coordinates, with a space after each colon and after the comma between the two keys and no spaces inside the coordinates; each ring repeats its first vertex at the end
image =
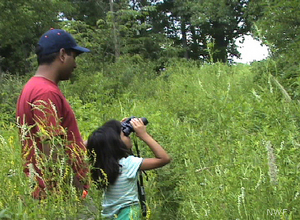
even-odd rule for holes
{"type": "Polygon", "coordinates": [[[240,56],[235,40],[245,34],[294,63],[299,8],[296,0],[2,0],[0,71],[28,72],[35,44],[50,27],[71,31],[100,63],[122,55],[158,67],[173,57],[228,63],[240,56]]]}

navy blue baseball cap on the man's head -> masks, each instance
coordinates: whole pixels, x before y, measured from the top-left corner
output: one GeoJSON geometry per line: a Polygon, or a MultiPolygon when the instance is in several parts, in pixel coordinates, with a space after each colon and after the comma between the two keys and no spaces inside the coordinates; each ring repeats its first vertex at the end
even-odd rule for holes
{"type": "Polygon", "coordinates": [[[90,52],[89,49],[78,46],[72,35],[61,29],[50,29],[44,33],[38,45],[40,46],[38,54],[41,55],[58,52],[61,48],[73,49],[78,53],[90,52]]]}

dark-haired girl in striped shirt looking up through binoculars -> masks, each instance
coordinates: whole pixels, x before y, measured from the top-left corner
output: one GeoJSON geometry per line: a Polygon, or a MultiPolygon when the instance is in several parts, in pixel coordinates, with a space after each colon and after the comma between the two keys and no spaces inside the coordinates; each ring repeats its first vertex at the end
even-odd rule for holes
{"type": "Polygon", "coordinates": [[[162,167],[171,161],[167,152],[147,133],[140,118],[131,119],[130,124],[152,150],[154,158],[132,155],[131,139],[124,135],[117,120],[106,122],[88,139],[87,149],[94,165],[92,178],[104,188],[102,216],[105,219],[141,219],[138,172],[162,167]]]}

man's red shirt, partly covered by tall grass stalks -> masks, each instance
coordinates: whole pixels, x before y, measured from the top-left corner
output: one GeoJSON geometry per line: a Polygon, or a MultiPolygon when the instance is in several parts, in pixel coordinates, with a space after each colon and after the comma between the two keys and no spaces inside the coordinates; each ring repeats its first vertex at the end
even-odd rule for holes
{"type": "Polygon", "coordinates": [[[39,197],[40,190],[44,190],[50,184],[43,179],[45,168],[37,162],[34,147],[41,150],[41,141],[49,137],[62,136],[67,139],[65,151],[69,155],[69,163],[77,179],[87,188],[88,166],[84,162],[86,148],[74,112],[57,84],[44,77],[32,77],[21,92],[16,114],[21,126],[22,155],[26,161],[24,172],[28,176],[32,175],[30,166],[37,172],[34,176],[38,187],[33,192],[34,197],[39,197]]]}

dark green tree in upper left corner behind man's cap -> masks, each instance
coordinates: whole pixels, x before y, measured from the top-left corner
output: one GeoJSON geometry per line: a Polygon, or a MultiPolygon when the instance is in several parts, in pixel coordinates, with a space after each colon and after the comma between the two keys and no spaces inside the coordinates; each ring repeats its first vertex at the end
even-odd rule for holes
{"type": "Polygon", "coordinates": [[[72,10],[66,1],[0,1],[0,70],[24,74],[26,60],[41,34],[57,27],[59,12],[72,10]]]}

